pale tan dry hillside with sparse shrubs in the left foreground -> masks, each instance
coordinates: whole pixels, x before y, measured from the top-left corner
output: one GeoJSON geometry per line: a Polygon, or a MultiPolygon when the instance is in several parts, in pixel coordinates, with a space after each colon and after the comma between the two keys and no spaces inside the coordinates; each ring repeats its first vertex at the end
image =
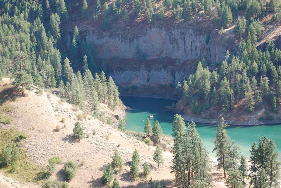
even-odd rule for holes
{"type": "MultiPolygon", "coordinates": [[[[8,83],[8,79],[4,80],[8,83]]],[[[3,125],[2,128],[16,127],[25,131],[29,138],[23,140],[23,147],[27,149],[32,161],[39,165],[47,165],[51,156],[58,155],[63,162],[56,165],[55,173],[51,179],[65,181],[62,168],[66,161],[73,160],[77,163],[78,170],[76,176],[71,180],[70,186],[76,187],[104,187],[101,183],[102,172],[111,162],[111,156],[117,149],[124,160],[124,169],[121,172],[115,172],[114,178],[117,178],[122,187],[147,187],[147,180],[132,180],[129,175],[130,162],[133,150],[137,149],[140,154],[141,164],[148,162],[152,166],[151,176],[154,180],[162,180],[168,187],[174,187],[174,174],[170,173],[172,154],[163,152],[164,164],[160,169],[156,169],[156,164],[152,159],[155,147],[148,146],[137,139],[126,135],[111,126],[88,115],[85,120],[80,121],[86,127],[88,138],[83,138],[77,142],[71,136],[72,128],[77,120],[77,114],[72,105],[62,102],[60,98],[43,92],[41,96],[34,91],[27,91],[25,97],[19,97],[11,102],[17,106],[17,109],[10,114],[13,117],[13,123],[3,125]],[[61,118],[65,118],[65,123],[61,123],[61,118]],[[55,132],[56,126],[61,130],[55,132]],[[96,132],[93,134],[93,132],[96,132]],[[106,141],[106,136],[109,139],[106,141]],[[91,176],[95,177],[95,182],[91,182],[91,176]]],[[[102,110],[111,113],[105,107],[102,110]]],[[[115,114],[121,114],[114,112],[115,114]]],[[[212,163],[212,166],[216,163],[212,163]]],[[[140,168],[142,172],[142,168],[140,168]]],[[[216,187],[223,187],[221,172],[212,170],[211,177],[216,187]]],[[[39,185],[21,185],[16,184],[3,174],[0,174],[0,187],[39,187],[39,185]],[[4,179],[8,179],[7,181],[4,179]],[[16,185],[16,186],[15,186],[16,185]]]]}

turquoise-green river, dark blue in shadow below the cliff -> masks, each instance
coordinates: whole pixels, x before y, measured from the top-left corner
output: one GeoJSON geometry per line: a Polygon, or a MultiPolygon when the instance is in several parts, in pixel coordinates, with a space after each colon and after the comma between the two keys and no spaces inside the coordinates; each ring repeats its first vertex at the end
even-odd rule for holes
{"type": "MultiPolygon", "coordinates": [[[[154,118],[150,119],[152,124],[157,119],[161,125],[164,134],[171,135],[174,119],[174,112],[165,112],[164,107],[171,105],[175,100],[164,98],[152,98],[152,97],[120,97],[122,102],[132,108],[132,110],[126,112],[124,117],[127,126],[127,130],[142,132],[145,121],[150,115],[154,118]]],[[[210,151],[210,157],[215,157],[212,153],[214,145],[212,140],[215,138],[216,125],[215,124],[202,124],[196,123],[197,130],[203,143],[210,151]]],[[[250,157],[249,150],[254,142],[258,143],[260,137],[268,137],[275,141],[277,151],[279,152],[279,160],[281,161],[281,125],[260,125],[260,126],[227,126],[228,135],[232,140],[240,146],[241,154],[246,158],[250,157]]]]}

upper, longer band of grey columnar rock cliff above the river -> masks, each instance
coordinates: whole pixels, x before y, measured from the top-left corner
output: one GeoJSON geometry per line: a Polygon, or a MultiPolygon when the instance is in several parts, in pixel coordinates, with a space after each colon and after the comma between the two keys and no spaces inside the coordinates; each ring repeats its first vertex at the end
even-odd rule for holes
{"type": "Polygon", "coordinates": [[[184,61],[207,57],[212,62],[224,59],[226,47],[231,48],[230,51],[235,48],[234,41],[229,39],[233,40],[218,34],[216,29],[199,33],[192,28],[149,28],[133,38],[106,33],[100,36],[95,31],[89,31],[86,36],[86,40],[95,45],[97,58],[133,58],[138,46],[147,59],[168,56],[184,61]]]}

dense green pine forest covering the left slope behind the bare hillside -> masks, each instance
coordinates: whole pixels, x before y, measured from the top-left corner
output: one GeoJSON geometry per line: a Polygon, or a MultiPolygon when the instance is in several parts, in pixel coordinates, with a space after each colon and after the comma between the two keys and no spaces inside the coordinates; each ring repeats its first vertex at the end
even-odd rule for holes
{"type": "Polygon", "coordinates": [[[95,66],[93,46],[80,39],[77,27],[71,51],[64,54],[60,50],[64,46],[60,23],[68,19],[67,10],[64,0],[51,3],[55,13],[49,9],[48,1],[1,2],[1,76],[13,78],[13,85],[22,95],[31,84],[39,89],[57,87],[60,97],[69,103],[83,107],[87,100],[96,113],[99,102],[103,102],[114,110],[120,104],[118,88],[111,77],[106,78],[95,66]],[[81,65],[81,71],[74,73],[71,65],[81,65]],[[93,79],[89,67],[100,74],[96,73],[93,79]]]}

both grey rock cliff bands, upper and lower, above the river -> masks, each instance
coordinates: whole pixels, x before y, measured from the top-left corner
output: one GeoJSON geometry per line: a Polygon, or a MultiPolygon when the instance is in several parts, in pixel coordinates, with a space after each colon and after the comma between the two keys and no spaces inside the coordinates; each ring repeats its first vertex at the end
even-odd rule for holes
{"type": "MultiPolygon", "coordinates": [[[[148,60],[169,57],[178,62],[186,62],[206,57],[210,62],[214,62],[222,61],[227,49],[231,52],[235,49],[233,37],[229,37],[229,33],[221,35],[216,29],[198,32],[192,28],[149,28],[133,38],[88,31],[86,40],[94,44],[99,59],[134,58],[136,47],[139,46],[148,60]]],[[[183,77],[190,74],[188,66],[137,66],[132,69],[122,64],[122,67],[112,69],[108,73],[121,86],[158,86],[182,81],[183,77]]]]}

